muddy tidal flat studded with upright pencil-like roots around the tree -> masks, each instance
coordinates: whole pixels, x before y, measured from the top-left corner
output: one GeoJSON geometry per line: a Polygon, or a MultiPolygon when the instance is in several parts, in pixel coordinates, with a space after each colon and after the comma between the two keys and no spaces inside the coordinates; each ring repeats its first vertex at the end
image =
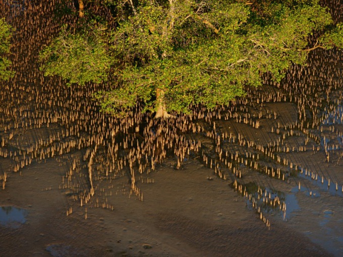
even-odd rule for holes
{"type": "Polygon", "coordinates": [[[5,256],[343,252],[341,52],[316,49],[282,83],[212,111],[117,119],[92,101],[109,85],[39,71],[58,1],[36,2],[0,4],[16,28],[16,75],[0,84],[5,256]]]}

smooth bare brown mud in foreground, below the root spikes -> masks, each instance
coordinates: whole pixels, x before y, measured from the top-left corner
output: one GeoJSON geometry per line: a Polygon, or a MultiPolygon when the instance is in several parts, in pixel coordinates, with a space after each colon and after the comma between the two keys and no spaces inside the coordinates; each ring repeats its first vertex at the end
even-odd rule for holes
{"type": "Polygon", "coordinates": [[[142,183],[143,202],[129,198],[123,177],[106,190],[112,192],[113,211],[74,204],[68,217],[70,191],[59,189],[58,162],[46,160],[21,176],[11,174],[0,206],[25,209],[27,216],[18,228],[0,226],[2,255],[329,256],[283,222],[268,230],[227,181],[197,161],[182,170],[170,164],[150,173],[153,183],[142,183]]]}

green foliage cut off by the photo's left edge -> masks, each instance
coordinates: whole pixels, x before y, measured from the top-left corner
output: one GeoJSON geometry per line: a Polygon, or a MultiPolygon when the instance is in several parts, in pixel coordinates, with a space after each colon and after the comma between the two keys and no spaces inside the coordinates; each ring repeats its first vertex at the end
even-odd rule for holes
{"type": "Polygon", "coordinates": [[[8,80],[14,76],[14,72],[8,71],[12,63],[7,57],[11,48],[12,31],[5,19],[0,19],[0,80],[8,80]]]}

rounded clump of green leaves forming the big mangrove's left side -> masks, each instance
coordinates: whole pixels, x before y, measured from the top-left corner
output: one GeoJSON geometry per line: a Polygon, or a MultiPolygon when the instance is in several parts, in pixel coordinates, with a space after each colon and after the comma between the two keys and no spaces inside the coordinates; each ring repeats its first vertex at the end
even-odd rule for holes
{"type": "Polygon", "coordinates": [[[69,85],[106,81],[110,58],[102,34],[96,26],[76,35],[63,27],[59,37],[40,52],[40,61],[44,62],[40,69],[45,76],[67,79],[69,85]]]}

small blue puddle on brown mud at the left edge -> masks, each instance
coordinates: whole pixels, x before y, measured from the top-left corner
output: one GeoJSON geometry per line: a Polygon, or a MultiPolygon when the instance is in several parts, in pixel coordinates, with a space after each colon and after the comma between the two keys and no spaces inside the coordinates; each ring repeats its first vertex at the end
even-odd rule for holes
{"type": "Polygon", "coordinates": [[[27,211],[13,206],[3,206],[0,208],[0,225],[18,228],[26,222],[27,211]]]}

